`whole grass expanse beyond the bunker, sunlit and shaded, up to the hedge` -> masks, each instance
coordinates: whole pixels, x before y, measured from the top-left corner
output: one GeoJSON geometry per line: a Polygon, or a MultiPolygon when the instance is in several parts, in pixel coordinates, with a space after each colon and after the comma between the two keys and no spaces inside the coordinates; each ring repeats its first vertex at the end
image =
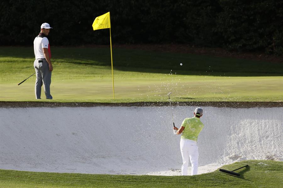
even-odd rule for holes
{"type": "MultiPolygon", "coordinates": [[[[114,48],[113,100],[108,48],[52,51],[52,102],[157,102],[169,92],[172,101],[283,100],[280,63],[114,48]]],[[[17,85],[34,73],[33,61],[33,48],[0,47],[1,101],[36,101],[35,76],[17,85]]]]}

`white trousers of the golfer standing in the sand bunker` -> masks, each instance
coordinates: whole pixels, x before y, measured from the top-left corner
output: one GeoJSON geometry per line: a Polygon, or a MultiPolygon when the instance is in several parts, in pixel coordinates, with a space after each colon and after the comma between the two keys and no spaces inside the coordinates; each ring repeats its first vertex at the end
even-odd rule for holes
{"type": "Polygon", "coordinates": [[[198,147],[197,142],[188,139],[180,141],[180,149],[183,158],[182,175],[188,175],[188,166],[191,161],[191,175],[197,175],[198,147]]]}

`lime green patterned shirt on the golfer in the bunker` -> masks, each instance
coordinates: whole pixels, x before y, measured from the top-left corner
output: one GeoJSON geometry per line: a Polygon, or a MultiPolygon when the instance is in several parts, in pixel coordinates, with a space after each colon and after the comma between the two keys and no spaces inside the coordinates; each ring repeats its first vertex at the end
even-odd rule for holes
{"type": "Polygon", "coordinates": [[[197,142],[197,136],[203,129],[203,123],[197,117],[184,119],[182,126],[185,127],[181,138],[194,140],[197,142]]]}

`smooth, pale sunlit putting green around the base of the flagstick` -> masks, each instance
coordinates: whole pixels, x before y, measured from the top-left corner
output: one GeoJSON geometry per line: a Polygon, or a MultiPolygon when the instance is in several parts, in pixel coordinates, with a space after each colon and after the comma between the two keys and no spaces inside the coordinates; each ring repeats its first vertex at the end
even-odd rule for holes
{"type": "MultiPolygon", "coordinates": [[[[136,73],[137,75],[139,73],[136,73]]],[[[56,100],[112,99],[112,80],[55,79],[51,92],[56,100]]],[[[2,100],[33,100],[35,77],[21,85],[1,83],[2,100]]],[[[115,78],[115,98],[132,101],[164,101],[166,94],[178,101],[280,101],[283,85],[281,77],[208,77],[159,75],[157,78],[115,78]],[[280,94],[281,92],[281,94],[280,94]]],[[[42,88],[42,98],[44,99],[42,88]]]]}

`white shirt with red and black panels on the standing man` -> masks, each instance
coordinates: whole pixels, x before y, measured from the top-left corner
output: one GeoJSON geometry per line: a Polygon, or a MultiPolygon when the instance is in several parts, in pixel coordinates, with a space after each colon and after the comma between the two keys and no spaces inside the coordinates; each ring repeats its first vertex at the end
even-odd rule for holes
{"type": "Polygon", "coordinates": [[[33,49],[34,49],[34,55],[35,55],[36,59],[44,59],[45,58],[42,48],[48,49],[49,56],[51,58],[49,41],[48,41],[47,37],[45,37],[44,34],[38,35],[33,41],[33,49]]]}

